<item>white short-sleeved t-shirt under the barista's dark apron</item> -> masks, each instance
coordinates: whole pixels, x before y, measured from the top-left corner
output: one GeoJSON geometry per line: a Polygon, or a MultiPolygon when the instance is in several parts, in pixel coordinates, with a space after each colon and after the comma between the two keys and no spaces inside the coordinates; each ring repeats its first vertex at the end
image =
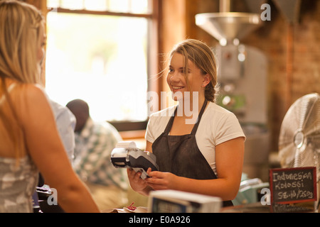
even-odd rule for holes
{"type": "MultiPolygon", "coordinates": [[[[147,141],[154,143],[154,140],[164,132],[175,108],[176,106],[171,106],[151,114],[146,127],[145,138],[147,141]]],[[[245,134],[235,114],[213,102],[209,102],[196,132],[196,143],[217,177],[215,146],[238,137],[245,138],[245,134]]]]}

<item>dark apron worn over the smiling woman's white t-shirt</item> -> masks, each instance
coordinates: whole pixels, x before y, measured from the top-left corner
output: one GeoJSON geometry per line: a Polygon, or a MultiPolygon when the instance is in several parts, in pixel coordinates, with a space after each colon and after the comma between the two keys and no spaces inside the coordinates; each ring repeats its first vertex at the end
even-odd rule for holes
{"type": "MultiPolygon", "coordinates": [[[[166,129],[152,144],[152,153],[156,155],[159,171],[191,179],[217,179],[196,143],[196,131],[207,103],[205,100],[198,121],[193,126],[191,134],[187,135],[169,135],[176,116],[176,110],[174,111],[166,129]]],[[[223,206],[233,206],[233,203],[223,201],[223,206]]]]}

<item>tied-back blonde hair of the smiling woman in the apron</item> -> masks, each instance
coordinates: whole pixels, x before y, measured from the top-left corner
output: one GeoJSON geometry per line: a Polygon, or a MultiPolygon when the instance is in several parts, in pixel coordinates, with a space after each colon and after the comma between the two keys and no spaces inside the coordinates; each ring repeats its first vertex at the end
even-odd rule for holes
{"type": "MultiPolygon", "coordinates": [[[[208,101],[215,102],[218,94],[217,82],[217,66],[213,51],[200,40],[187,39],[178,43],[171,50],[169,57],[172,57],[177,52],[185,57],[184,68],[188,68],[188,60],[191,60],[201,70],[203,75],[210,76],[210,83],[205,88],[205,97],[208,101]]],[[[189,86],[187,74],[184,74],[186,83],[189,86]]]]}

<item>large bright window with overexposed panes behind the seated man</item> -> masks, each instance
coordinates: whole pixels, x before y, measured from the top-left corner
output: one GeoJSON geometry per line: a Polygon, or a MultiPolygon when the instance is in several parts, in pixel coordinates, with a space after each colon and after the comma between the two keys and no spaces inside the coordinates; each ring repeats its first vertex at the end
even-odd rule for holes
{"type": "Polygon", "coordinates": [[[50,98],[63,105],[84,99],[99,121],[146,121],[152,1],[48,0],[47,6],[50,98]]]}

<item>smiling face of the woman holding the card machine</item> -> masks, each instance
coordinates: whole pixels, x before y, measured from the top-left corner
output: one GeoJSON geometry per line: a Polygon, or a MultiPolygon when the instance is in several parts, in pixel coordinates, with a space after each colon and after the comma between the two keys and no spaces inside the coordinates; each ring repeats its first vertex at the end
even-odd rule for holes
{"type": "Polygon", "coordinates": [[[202,74],[196,65],[188,60],[185,64],[185,57],[178,52],[174,52],[169,65],[169,73],[166,77],[172,98],[175,101],[182,101],[186,98],[185,92],[198,92],[199,99],[204,99],[204,89],[210,79],[207,74],[202,74]]]}

